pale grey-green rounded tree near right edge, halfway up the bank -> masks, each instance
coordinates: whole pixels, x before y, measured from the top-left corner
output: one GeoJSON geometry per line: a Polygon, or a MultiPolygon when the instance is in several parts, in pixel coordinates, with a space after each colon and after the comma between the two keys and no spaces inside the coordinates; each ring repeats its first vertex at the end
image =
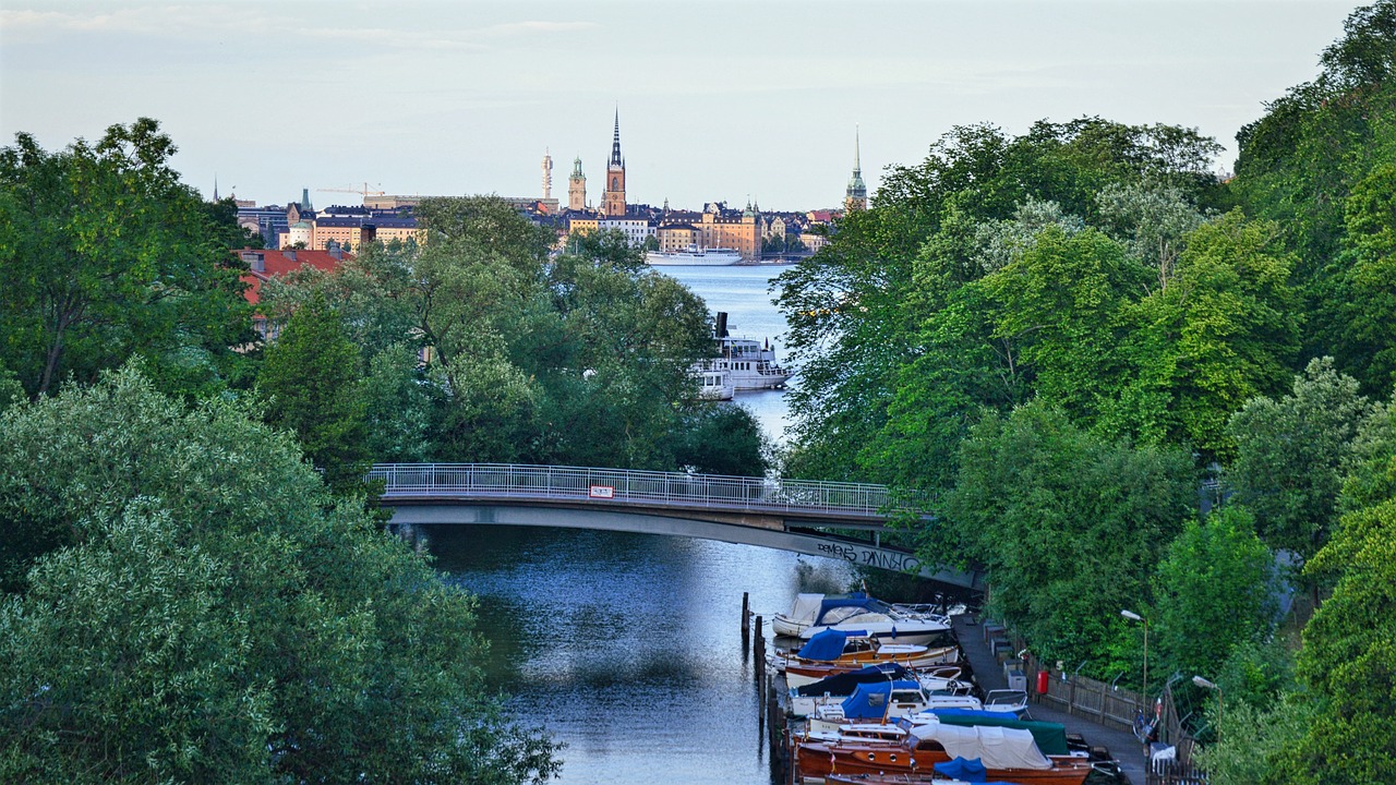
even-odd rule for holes
{"type": "Polygon", "coordinates": [[[1328,542],[1353,439],[1371,416],[1357,381],[1329,358],[1311,360],[1290,395],[1252,398],[1231,416],[1237,457],[1226,479],[1270,548],[1307,562],[1328,542]]]}

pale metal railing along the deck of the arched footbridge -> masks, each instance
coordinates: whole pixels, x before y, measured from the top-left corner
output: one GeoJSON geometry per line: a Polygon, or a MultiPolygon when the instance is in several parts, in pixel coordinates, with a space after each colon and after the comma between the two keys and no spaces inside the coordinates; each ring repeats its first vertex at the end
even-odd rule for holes
{"type": "Polygon", "coordinates": [[[517,464],[376,464],[385,499],[517,497],[879,517],[886,486],[517,464]]]}

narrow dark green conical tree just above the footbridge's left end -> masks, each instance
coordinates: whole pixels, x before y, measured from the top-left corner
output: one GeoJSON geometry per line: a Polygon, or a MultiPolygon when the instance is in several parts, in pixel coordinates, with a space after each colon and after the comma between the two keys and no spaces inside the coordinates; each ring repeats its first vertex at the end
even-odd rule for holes
{"type": "Polygon", "coordinates": [[[258,377],[269,399],[267,422],[295,433],[306,457],[335,483],[352,482],[367,457],[359,369],[339,314],[315,295],[267,348],[258,377]]]}

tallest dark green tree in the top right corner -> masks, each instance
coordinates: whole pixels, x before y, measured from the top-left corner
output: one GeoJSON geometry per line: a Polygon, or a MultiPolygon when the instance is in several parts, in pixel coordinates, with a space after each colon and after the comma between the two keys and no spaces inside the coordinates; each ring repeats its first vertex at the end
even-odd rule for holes
{"type": "Polygon", "coordinates": [[[1396,163],[1392,52],[1396,3],[1379,0],[1356,10],[1343,38],[1323,52],[1318,77],[1291,88],[1237,135],[1241,154],[1231,183],[1241,204],[1275,221],[1298,254],[1297,284],[1312,314],[1305,353],[1335,355],[1340,370],[1379,395],[1392,381],[1392,360],[1374,363],[1383,346],[1372,339],[1385,335],[1381,320],[1389,311],[1371,309],[1389,303],[1371,286],[1385,274],[1379,256],[1353,243],[1354,229],[1362,229],[1350,223],[1354,214],[1378,218],[1367,210],[1369,197],[1374,186],[1381,190],[1381,170],[1396,163]],[[1367,196],[1360,194],[1364,190],[1367,196]],[[1344,251],[1349,257],[1340,258],[1344,251]],[[1356,264],[1365,270],[1353,271],[1356,264]],[[1368,302],[1354,309],[1354,295],[1368,302]]]}

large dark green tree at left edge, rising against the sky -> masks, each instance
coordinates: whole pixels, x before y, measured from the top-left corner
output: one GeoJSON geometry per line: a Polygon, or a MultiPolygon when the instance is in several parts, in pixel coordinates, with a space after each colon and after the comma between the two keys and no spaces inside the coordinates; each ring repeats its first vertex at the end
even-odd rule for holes
{"type": "Polygon", "coordinates": [[[179,182],[173,155],[148,117],[61,152],[29,134],[0,151],[0,260],[24,271],[0,292],[0,358],[31,395],[133,355],[159,372],[198,349],[204,377],[236,362],[251,321],[228,249],[244,233],[179,182]]]}

